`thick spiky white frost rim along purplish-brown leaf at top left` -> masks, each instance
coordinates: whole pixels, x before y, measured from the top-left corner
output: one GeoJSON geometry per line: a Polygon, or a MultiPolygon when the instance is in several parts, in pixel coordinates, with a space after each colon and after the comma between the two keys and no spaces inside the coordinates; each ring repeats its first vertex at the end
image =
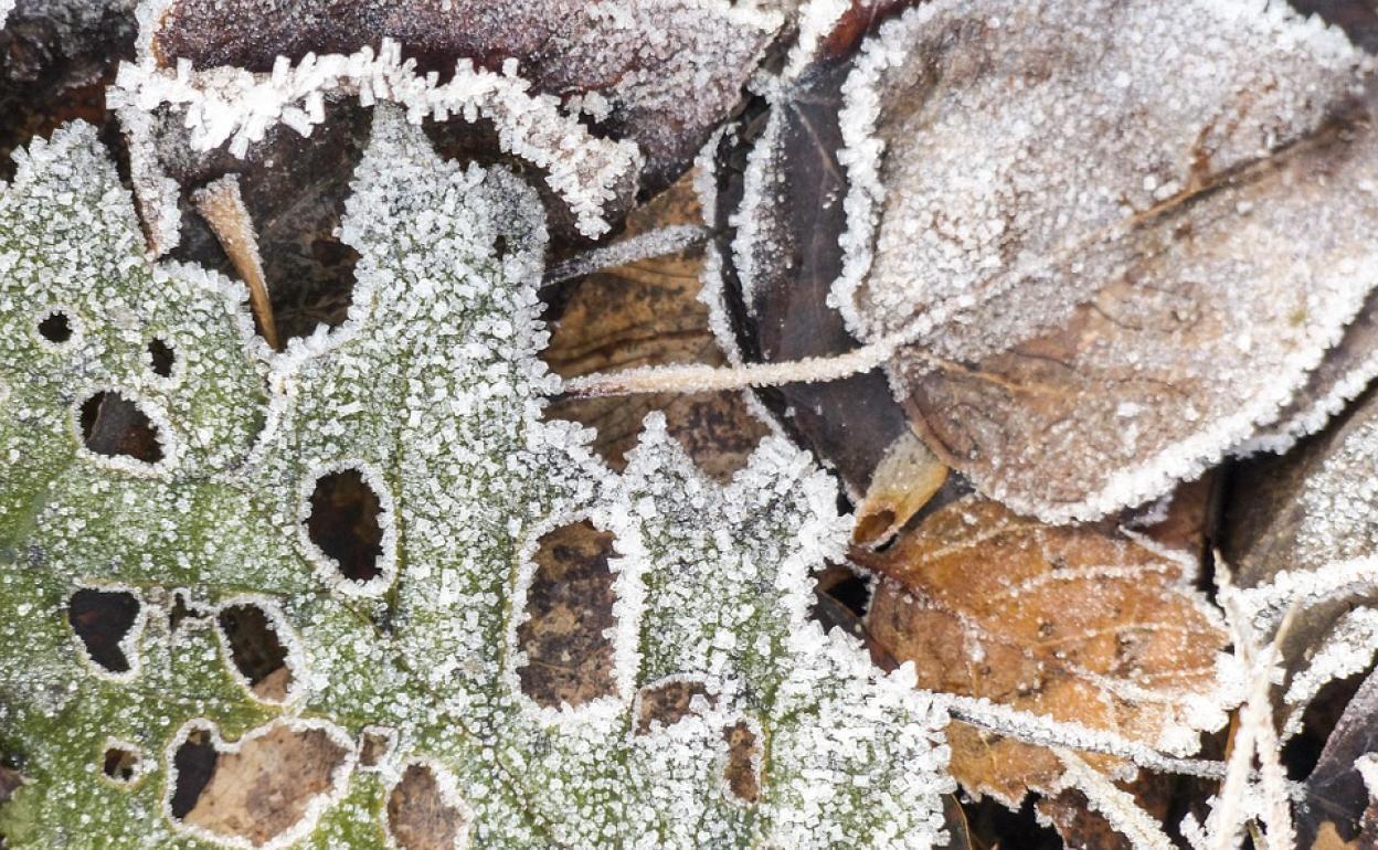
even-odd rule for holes
{"type": "MultiPolygon", "coordinates": [[[[152,33],[141,34],[143,39],[152,39],[152,33]]],[[[141,44],[141,51],[145,50],[147,45],[141,44]]],[[[145,56],[138,65],[120,66],[107,96],[121,114],[172,106],[183,112],[194,149],[209,150],[229,142],[236,157],[243,157],[251,142],[263,139],[277,124],[310,135],[325,120],[327,95],[354,95],[364,106],[391,101],[407,109],[413,124],[427,116],[438,121],[451,116],[477,121],[482,116],[497,127],[503,150],[547,171],[546,182],[569,204],[580,233],[588,237],[606,233],[604,207],[616,197],[613,186],[627,175],[639,174],[645,157],[631,141],[593,136],[559,109],[557,98],[532,95],[531,84],[517,70],[515,59],[508,59],[500,74],[460,61],[453,79],[440,84],[438,74],[419,74],[415,61],[404,61],[401,47],[384,39],[376,54],[371,47],[350,55],[307,54],[295,66],[280,56],[270,73],[234,68],[196,72],[185,59],[176,69],[164,69],[145,56]]],[[[130,129],[138,132],[141,125],[130,129]]],[[[131,149],[142,145],[152,141],[131,139],[131,149]]],[[[150,182],[164,180],[152,171],[145,174],[150,182]]],[[[164,240],[171,238],[163,231],[169,212],[165,201],[160,200],[156,209],[156,231],[164,240]]]]}

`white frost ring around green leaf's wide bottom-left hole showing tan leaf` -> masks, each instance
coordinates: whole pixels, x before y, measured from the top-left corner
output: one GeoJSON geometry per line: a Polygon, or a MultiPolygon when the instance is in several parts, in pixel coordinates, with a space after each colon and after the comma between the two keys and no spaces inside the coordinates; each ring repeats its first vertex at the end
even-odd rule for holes
{"type": "Polygon", "coordinates": [[[321,816],[325,811],[344,798],[344,792],[349,791],[349,776],[354,771],[356,760],[354,741],[349,734],[331,723],[329,721],[321,719],[303,719],[303,718],[276,718],[245,732],[240,740],[229,744],[220,737],[219,726],[207,718],[192,718],[183,723],[172,738],[168,741],[167,749],[163,754],[163,760],[167,770],[167,788],[163,795],[161,809],[163,817],[172,825],[172,831],[179,835],[200,839],[216,847],[233,847],[234,850],[285,850],[287,847],[295,844],[298,840],[306,838],[316,831],[316,825],[320,822],[321,816]],[[287,726],[292,730],[324,730],[332,741],[339,744],[344,749],[344,756],[340,759],[339,766],[331,773],[331,788],[329,791],[317,794],[311,798],[311,802],[306,805],[306,811],[302,813],[300,820],[292,824],[288,829],[278,833],[273,840],[256,844],[247,838],[241,836],[226,836],[218,832],[211,832],[209,829],[197,827],[194,824],[187,824],[179,818],[172,817],[172,794],[176,791],[176,763],[174,758],[176,751],[186,741],[187,736],[193,730],[205,730],[211,736],[211,745],[218,754],[238,752],[244,744],[260,738],[271,733],[277,726],[287,726]]]}

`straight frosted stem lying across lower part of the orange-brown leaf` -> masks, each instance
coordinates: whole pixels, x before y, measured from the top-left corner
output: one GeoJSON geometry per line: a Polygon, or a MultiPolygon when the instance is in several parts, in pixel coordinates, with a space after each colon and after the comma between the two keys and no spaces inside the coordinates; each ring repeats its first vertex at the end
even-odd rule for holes
{"type": "Polygon", "coordinates": [[[1180,773],[1214,780],[1225,776],[1225,765],[1221,762],[1164,755],[1152,747],[1102,729],[1054,721],[1046,715],[999,705],[998,703],[977,697],[937,694],[936,698],[948,709],[948,714],[954,719],[970,726],[998,732],[1002,736],[1024,741],[1025,744],[1113,755],[1159,773],[1180,773]]]}

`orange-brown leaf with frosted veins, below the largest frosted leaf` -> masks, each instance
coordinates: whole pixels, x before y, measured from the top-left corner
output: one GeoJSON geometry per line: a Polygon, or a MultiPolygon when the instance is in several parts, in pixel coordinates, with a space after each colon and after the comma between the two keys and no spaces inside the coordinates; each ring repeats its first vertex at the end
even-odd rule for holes
{"type": "MultiPolygon", "coordinates": [[[[969,497],[885,552],[854,550],[882,576],[868,623],[919,687],[985,697],[1181,751],[1224,722],[1218,617],[1189,585],[1192,559],[1111,524],[1050,526],[969,497]]],[[[1056,791],[1050,751],[962,723],[952,773],[1017,806],[1056,791]]],[[[1101,769],[1108,758],[1087,756],[1101,769]]]]}

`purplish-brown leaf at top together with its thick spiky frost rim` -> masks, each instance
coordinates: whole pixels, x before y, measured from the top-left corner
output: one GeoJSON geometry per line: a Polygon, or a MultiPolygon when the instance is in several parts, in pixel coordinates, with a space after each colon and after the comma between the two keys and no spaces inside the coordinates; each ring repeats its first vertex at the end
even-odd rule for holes
{"type": "Polygon", "coordinates": [[[112,102],[157,251],[176,244],[156,110],[193,150],[243,156],[357,96],[491,128],[597,237],[644,180],[668,185],[740,96],[779,18],[722,0],[296,4],[145,0],[112,102]]]}

